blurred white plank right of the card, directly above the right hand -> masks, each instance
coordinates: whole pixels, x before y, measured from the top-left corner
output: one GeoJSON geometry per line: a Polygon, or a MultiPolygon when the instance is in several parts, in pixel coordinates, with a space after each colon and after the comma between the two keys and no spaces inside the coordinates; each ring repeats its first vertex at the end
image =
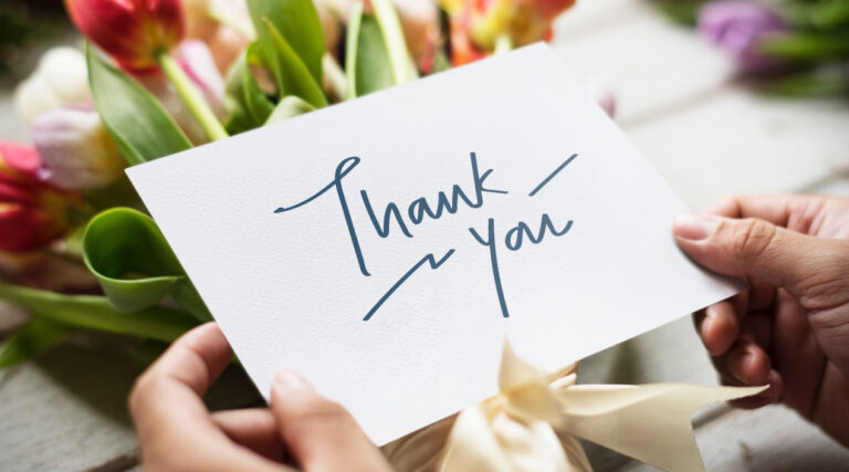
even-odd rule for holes
{"type": "Polygon", "coordinates": [[[732,193],[786,192],[845,169],[849,103],[776,99],[731,87],[698,107],[626,126],[691,207],[732,193]]]}

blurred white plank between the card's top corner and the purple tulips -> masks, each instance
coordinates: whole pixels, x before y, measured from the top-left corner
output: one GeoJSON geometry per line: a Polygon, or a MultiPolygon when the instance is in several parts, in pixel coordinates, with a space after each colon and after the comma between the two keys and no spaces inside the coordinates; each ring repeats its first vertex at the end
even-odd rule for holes
{"type": "MultiPolygon", "coordinates": [[[[724,54],[691,29],[670,23],[647,2],[637,2],[617,18],[627,22],[589,35],[557,35],[554,48],[570,69],[610,84],[621,123],[698,104],[732,77],[734,67],[724,54]]],[[[591,29],[601,21],[590,20],[587,28],[591,29]]]]}

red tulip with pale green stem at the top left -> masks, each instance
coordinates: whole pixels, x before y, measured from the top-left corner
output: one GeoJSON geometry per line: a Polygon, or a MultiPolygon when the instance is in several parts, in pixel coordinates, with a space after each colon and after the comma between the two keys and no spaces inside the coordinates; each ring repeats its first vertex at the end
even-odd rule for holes
{"type": "Polygon", "coordinates": [[[161,69],[210,139],[227,132],[170,52],[184,38],[180,0],[65,0],[76,27],[122,67],[136,74],[161,69]]]}

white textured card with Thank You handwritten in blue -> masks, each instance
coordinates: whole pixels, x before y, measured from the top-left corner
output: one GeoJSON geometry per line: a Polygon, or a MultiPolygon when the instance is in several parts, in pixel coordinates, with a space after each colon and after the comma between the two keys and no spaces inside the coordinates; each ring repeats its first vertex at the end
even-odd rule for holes
{"type": "Polygon", "coordinates": [[[379,444],[494,394],[505,334],[554,370],[738,290],[545,45],[128,174],[259,390],[296,369],[379,444]]]}

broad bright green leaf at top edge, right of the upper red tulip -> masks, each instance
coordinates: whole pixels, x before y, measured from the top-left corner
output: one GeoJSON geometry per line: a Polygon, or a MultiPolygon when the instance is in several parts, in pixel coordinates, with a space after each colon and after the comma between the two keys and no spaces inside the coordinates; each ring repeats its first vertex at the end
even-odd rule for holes
{"type": "MultiPolygon", "coordinates": [[[[286,69],[291,64],[281,63],[277,60],[277,45],[272,32],[265,25],[266,22],[274,25],[280,36],[291,46],[293,54],[306,67],[313,81],[317,84],[323,83],[324,32],[312,0],[248,0],[248,9],[256,30],[260,48],[268,61],[266,65],[276,77],[281,91],[286,88],[283,85],[286,69]]],[[[281,96],[287,93],[281,93],[281,96]]],[[[301,97],[313,103],[306,96],[301,95],[301,97]]]]}

